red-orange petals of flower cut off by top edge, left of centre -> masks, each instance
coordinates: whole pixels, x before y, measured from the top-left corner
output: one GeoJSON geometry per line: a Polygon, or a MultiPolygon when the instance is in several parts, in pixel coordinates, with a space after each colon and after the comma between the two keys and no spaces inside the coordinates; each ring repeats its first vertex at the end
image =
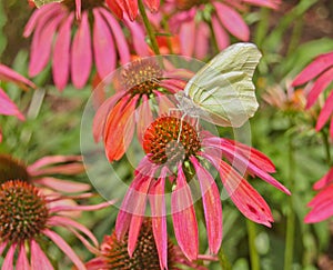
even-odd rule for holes
{"type": "MultiPolygon", "coordinates": [[[[124,12],[130,20],[133,21],[138,16],[138,1],[139,0],[107,0],[107,4],[120,18],[122,17],[122,12],[124,12]]],[[[143,0],[143,2],[151,12],[157,12],[160,7],[160,0],[143,0]]]]}

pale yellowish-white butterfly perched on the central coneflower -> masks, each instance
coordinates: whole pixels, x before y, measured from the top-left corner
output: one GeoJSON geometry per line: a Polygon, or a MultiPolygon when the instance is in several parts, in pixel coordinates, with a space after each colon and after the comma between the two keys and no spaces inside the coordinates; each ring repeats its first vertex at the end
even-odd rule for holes
{"type": "Polygon", "coordinates": [[[255,44],[230,46],[175,94],[179,108],[218,126],[241,127],[259,107],[252,77],[260,58],[255,44]]]}

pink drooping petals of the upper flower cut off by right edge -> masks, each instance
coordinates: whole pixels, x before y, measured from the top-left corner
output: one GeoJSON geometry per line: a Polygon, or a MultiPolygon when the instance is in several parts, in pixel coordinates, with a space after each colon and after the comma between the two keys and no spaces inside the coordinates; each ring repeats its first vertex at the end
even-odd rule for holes
{"type": "MultiPolygon", "coordinates": [[[[311,108],[319,99],[320,94],[330,86],[333,78],[333,52],[319,56],[311,62],[293,81],[293,86],[302,86],[315,80],[307,96],[306,109],[311,108]]],[[[333,138],[333,91],[321,109],[315,130],[320,131],[331,119],[330,134],[333,138]]]]}

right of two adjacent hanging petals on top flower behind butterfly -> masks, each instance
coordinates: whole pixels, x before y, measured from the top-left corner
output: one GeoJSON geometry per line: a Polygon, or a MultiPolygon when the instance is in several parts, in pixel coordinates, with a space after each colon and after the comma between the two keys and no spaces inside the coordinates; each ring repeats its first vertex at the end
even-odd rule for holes
{"type": "Polygon", "coordinates": [[[195,36],[195,47],[194,47],[194,56],[199,59],[203,59],[206,57],[209,52],[209,37],[210,29],[206,23],[201,22],[196,27],[196,36],[195,36]]]}

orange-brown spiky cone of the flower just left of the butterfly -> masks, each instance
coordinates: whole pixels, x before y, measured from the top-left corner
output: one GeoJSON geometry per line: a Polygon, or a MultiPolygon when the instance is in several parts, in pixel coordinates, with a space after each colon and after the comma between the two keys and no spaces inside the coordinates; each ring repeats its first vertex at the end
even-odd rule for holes
{"type": "Polygon", "coordinates": [[[152,59],[139,59],[124,68],[122,83],[132,96],[150,94],[160,87],[163,76],[161,67],[152,59]]]}

